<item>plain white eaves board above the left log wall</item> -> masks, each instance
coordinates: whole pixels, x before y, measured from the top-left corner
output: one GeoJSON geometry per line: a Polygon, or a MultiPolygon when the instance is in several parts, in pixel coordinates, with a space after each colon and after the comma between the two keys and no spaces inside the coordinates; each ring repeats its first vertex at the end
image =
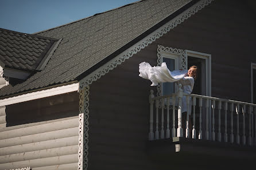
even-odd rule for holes
{"type": "Polygon", "coordinates": [[[11,105],[11,104],[16,104],[18,102],[24,102],[24,101],[35,100],[38,98],[55,96],[58,94],[75,92],[77,90],[79,90],[78,82],[75,84],[71,84],[71,85],[64,85],[64,86],[59,86],[59,87],[52,88],[52,89],[41,90],[41,91],[37,91],[37,92],[22,94],[20,96],[5,98],[5,99],[0,100],[0,106],[6,106],[6,105],[11,105]]]}

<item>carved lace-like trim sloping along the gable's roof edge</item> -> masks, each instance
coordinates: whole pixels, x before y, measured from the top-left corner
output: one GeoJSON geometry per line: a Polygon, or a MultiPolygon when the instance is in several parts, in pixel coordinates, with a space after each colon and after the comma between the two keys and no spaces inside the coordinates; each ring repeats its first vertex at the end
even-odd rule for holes
{"type": "Polygon", "coordinates": [[[122,62],[125,62],[125,60],[132,57],[133,54],[138,53],[141,49],[144,49],[149,44],[152,44],[154,41],[156,41],[156,39],[168,33],[171,29],[173,29],[180,23],[184,22],[193,14],[197,13],[197,11],[209,5],[212,1],[214,0],[202,0],[195,3],[195,5],[189,7],[189,9],[185,10],[183,13],[173,18],[171,21],[165,23],[165,25],[161,26],[153,33],[149,34],[148,36],[143,38],[141,41],[137,42],[135,45],[125,50],[125,52],[119,54],[117,57],[113,58],[113,60],[108,61],[99,69],[96,69],[94,72],[84,77],[82,80],[79,81],[79,88],[83,89],[84,86],[88,86],[92,84],[92,82],[98,80],[101,76],[104,76],[110,70],[113,70],[114,68],[116,68],[117,65],[122,64],[122,62]]]}

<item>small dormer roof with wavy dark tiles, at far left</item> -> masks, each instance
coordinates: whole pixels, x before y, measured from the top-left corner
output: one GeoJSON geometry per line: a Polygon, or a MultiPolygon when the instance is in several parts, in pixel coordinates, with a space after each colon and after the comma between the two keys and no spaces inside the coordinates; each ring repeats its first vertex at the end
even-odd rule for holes
{"type": "Polygon", "coordinates": [[[57,39],[0,28],[0,61],[4,65],[2,67],[36,70],[55,41],[57,39]]]}

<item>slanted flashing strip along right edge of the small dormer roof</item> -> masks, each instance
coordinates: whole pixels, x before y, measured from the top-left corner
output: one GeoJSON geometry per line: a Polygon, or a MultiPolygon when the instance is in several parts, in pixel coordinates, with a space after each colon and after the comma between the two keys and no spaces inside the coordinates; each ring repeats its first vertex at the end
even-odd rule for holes
{"type": "Polygon", "coordinates": [[[61,40],[63,38],[60,38],[59,41],[55,41],[54,44],[51,46],[51,48],[48,50],[48,52],[45,54],[44,58],[42,58],[40,64],[38,64],[36,70],[43,70],[46,66],[46,64],[48,63],[48,61],[50,60],[50,58],[53,55],[53,52],[55,52],[55,50],[57,49],[57,47],[59,46],[61,40]]]}

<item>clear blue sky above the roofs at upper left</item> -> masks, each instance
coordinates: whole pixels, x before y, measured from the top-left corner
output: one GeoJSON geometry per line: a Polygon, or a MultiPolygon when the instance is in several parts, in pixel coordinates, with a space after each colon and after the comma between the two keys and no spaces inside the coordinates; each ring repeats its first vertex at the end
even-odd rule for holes
{"type": "Polygon", "coordinates": [[[0,0],[0,27],[36,33],[138,0],[0,0]]]}

